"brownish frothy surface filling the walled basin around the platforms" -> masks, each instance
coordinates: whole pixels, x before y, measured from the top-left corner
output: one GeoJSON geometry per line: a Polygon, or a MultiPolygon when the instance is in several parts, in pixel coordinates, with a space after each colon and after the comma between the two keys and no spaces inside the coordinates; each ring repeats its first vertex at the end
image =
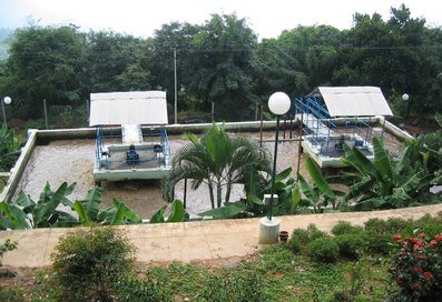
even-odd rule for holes
{"type": "MultiPolygon", "coordinates": [[[[264,132],[264,140],[273,140],[273,132],[264,132]]],[[[258,132],[240,132],[233,135],[247,137],[254,140],[259,139],[258,132]]],[[[288,132],[286,138],[288,138],[288,132]]],[[[283,133],[281,133],[281,138],[283,133]]],[[[297,134],[294,132],[293,138],[297,134]]],[[[180,137],[169,137],[171,154],[175,150],[183,147],[186,141],[180,137]]],[[[274,143],[264,142],[263,145],[273,154],[274,143]]],[[[295,172],[297,169],[297,141],[282,142],[278,147],[277,170],[282,171],[287,167],[292,167],[295,172]]],[[[399,150],[401,143],[387,134],[389,149],[399,150]]],[[[52,141],[47,145],[36,147],[32,157],[28,163],[24,174],[18,185],[17,193],[21,190],[26,191],[32,198],[37,199],[47,182],[53,189],[57,189],[63,181],[68,183],[77,182],[77,188],[70,195],[72,200],[81,199],[87,191],[94,188],[94,168],[95,159],[95,140],[65,140],[52,141]]],[[[301,157],[301,173],[307,175],[304,167],[305,154],[301,157]]],[[[158,180],[136,180],[136,181],[118,181],[104,182],[104,205],[111,203],[114,198],[122,200],[126,204],[135,210],[143,218],[149,218],[160,207],[165,204],[160,192],[160,181],[158,180]]],[[[184,181],[176,187],[176,198],[184,198],[184,181]]],[[[235,200],[244,197],[242,185],[235,185],[232,192],[232,199],[235,200]]],[[[187,190],[187,211],[190,215],[209,210],[210,201],[208,198],[208,189],[202,185],[194,191],[188,185],[187,190]]]]}

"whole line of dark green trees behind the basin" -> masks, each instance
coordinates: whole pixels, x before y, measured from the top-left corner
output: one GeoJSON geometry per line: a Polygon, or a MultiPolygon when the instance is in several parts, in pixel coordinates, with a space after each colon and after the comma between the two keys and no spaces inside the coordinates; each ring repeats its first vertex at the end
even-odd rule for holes
{"type": "Polygon", "coordinates": [[[208,113],[214,102],[217,119],[245,120],[275,90],[299,97],[320,84],[369,84],[403,117],[442,109],[441,42],[441,29],[411,18],[405,6],[389,20],[355,13],[348,30],[299,26],[262,41],[235,14],[171,22],[148,39],[33,23],[11,37],[0,94],[12,97],[22,119],[41,118],[42,99],[78,107],[99,91],[163,89],[171,103],[176,51],[180,110],[208,113]]]}

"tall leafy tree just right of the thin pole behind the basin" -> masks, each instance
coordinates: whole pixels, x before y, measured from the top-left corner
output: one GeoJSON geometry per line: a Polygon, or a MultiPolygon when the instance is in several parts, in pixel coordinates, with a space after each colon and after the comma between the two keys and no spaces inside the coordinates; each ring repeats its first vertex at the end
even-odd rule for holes
{"type": "Polygon", "coordinates": [[[252,53],[256,36],[245,19],[235,14],[213,14],[193,38],[189,90],[216,103],[220,117],[238,118],[248,112],[252,95],[252,53]],[[235,112],[232,108],[237,108],[235,112]]]}

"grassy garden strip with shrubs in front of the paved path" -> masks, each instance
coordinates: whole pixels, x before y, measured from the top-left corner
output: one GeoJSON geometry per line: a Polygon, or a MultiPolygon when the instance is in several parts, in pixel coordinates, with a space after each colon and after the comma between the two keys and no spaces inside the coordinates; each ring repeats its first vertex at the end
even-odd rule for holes
{"type": "MultiPolygon", "coordinates": [[[[67,266],[60,268],[61,272],[73,263],[79,263],[82,259],[80,255],[102,245],[102,250],[94,254],[100,256],[90,256],[87,260],[101,261],[104,265],[90,265],[91,262],[87,262],[75,272],[81,275],[70,283],[79,285],[80,281],[89,278],[90,282],[86,288],[79,290],[86,294],[88,301],[98,299],[94,295],[97,293],[97,288],[94,288],[97,284],[95,276],[99,273],[97,270],[105,268],[102,272],[109,273],[110,266],[105,265],[107,261],[121,251],[120,243],[125,249],[128,246],[122,243],[125,240],[117,244],[105,244],[108,240],[114,242],[116,239],[108,238],[114,233],[111,230],[96,228],[90,232],[73,233],[59,245],[59,250],[62,246],[67,252],[66,255],[73,254],[73,251],[79,255],[69,258],[67,266]],[[100,235],[91,238],[94,232],[99,232],[100,235]]],[[[274,244],[237,264],[228,263],[227,268],[220,269],[212,263],[209,266],[203,266],[173,262],[168,265],[139,268],[136,275],[124,265],[125,268],[118,272],[119,278],[112,279],[114,273],[107,274],[101,280],[110,283],[98,289],[107,289],[108,293],[112,293],[115,301],[438,301],[428,298],[433,295],[438,299],[441,291],[441,283],[435,282],[441,278],[441,256],[435,252],[440,253],[442,244],[442,212],[418,220],[372,219],[363,226],[338,222],[333,228],[333,233],[335,236],[330,236],[314,224],[307,229],[296,229],[291,240],[297,236],[299,242],[303,242],[301,253],[293,253],[288,249],[288,242],[274,244]],[[308,243],[324,240],[330,243],[337,241],[340,236],[356,234],[364,240],[387,236],[384,244],[390,249],[394,248],[392,258],[389,252],[373,252],[371,246],[360,250],[357,260],[347,258],[341,251],[335,263],[316,262],[308,256],[308,243]],[[406,254],[405,258],[402,252],[406,254]],[[400,282],[397,276],[402,278],[400,282]]],[[[370,241],[365,245],[372,243],[370,241]]],[[[335,251],[335,248],[333,250],[335,251]]],[[[119,265],[121,259],[112,263],[119,265]]],[[[67,275],[69,274],[42,270],[37,273],[36,282],[31,286],[21,288],[22,283],[19,282],[17,285],[0,289],[0,298],[6,301],[24,301],[22,296],[27,296],[27,301],[66,301],[66,289],[60,279],[67,275]]],[[[70,292],[72,299],[76,293],[70,292]]]]}

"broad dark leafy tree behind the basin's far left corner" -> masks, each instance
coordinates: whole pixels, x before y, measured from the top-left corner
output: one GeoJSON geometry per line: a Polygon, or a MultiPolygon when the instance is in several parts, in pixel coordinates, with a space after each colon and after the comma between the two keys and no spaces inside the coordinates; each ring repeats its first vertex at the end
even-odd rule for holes
{"type": "Polygon", "coordinates": [[[17,115],[39,118],[42,99],[81,100],[82,39],[75,27],[18,29],[11,39],[0,90],[13,95],[17,115]]]}

